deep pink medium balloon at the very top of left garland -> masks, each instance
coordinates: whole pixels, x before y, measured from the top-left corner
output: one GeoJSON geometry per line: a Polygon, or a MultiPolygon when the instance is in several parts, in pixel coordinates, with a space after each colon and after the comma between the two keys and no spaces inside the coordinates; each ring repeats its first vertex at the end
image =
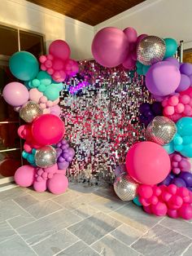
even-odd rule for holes
{"type": "Polygon", "coordinates": [[[61,60],[68,60],[71,50],[67,42],[64,42],[63,40],[55,40],[50,44],[49,53],[61,60]]]}

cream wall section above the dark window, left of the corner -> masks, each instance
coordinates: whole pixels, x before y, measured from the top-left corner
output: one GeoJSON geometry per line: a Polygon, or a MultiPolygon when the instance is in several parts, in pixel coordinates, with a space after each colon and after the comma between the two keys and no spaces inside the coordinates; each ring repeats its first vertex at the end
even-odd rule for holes
{"type": "Polygon", "coordinates": [[[94,27],[55,11],[25,0],[0,0],[0,23],[42,33],[46,36],[46,46],[63,39],[71,47],[71,57],[75,60],[92,58],[94,27]]]}

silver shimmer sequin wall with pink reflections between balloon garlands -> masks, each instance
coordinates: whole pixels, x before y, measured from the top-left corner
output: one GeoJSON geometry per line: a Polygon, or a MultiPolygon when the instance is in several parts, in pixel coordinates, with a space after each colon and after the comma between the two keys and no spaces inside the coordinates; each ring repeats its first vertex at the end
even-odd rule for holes
{"type": "Polygon", "coordinates": [[[66,83],[61,97],[66,135],[76,150],[69,179],[111,183],[129,147],[145,139],[138,121],[139,105],[150,99],[143,77],[134,70],[82,61],[80,73],[66,83]]]}

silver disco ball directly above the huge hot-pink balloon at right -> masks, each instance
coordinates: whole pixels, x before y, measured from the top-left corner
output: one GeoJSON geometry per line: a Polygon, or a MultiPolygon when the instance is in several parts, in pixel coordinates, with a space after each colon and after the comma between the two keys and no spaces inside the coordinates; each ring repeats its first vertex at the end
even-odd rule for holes
{"type": "Polygon", "coordinates": [[[146,130],[150,140],[163,146],[172,141],[177,132],[177,126],[168,117],[155,117],[146,130]]]}

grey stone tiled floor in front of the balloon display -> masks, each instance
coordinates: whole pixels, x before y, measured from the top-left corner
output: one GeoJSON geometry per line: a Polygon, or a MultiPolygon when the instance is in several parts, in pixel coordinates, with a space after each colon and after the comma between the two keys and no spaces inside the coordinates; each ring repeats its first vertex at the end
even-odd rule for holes
{"type": "Polygon", "coordinates": [[[0,255],[192,255],[192,223],[145,214],[107,188],[0,192],[0,255]]]}

